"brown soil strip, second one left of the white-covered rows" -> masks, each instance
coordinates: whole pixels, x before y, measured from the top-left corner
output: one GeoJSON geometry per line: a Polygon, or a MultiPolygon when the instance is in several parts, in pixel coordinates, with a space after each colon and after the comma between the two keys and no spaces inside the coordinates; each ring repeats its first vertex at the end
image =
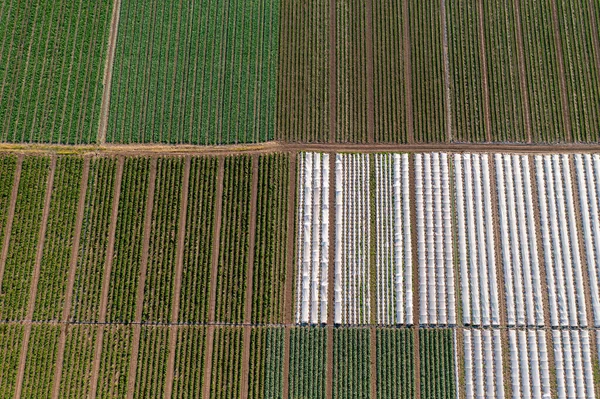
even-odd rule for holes
{"type": "MultiPolygon", "coordinates": [[[[248,274],[246,275],[246,298],[244,304],[244,321],[252,321],[252,284],[254,282],[254,256],[256,245],[256,204],[258,202],[258,155],[252,156],[252,191],[250,194],[250,237],[248,239],[248,274]]],[[[244,337],[242,342],[242,375],[241,375],[241,398],[248,398],[248,381],[250,368],[250,340],[252,327],[244,326],[244,337]]]]}

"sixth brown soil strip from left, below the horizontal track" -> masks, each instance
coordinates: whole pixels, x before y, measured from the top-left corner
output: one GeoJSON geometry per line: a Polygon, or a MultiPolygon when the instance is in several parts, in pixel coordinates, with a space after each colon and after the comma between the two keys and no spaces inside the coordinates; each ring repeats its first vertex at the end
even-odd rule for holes
{"type": "MultiPolygon", "coordinates": [[[[181,280],[183,274],[183,256],[185,249],[185,227],[188,204],[188,191],[190,186],[190,167],[191,159],[185,159],[183,168],[183,183],[181,185],[181,208],[179,212],[179,231],[177,233],[177,253],[175,282],[173,289],[173,305],[171,309],[171,322],[177,323],[179,320],[179,305],[181,300],[181,280]]],[[[165,398],[170,398],[173,392],[173,374],[175,372],[175,353],[177,351],[177,326],[169,329],[169,358],[167,360],[167,378],[165,381],[165,398]]]]}

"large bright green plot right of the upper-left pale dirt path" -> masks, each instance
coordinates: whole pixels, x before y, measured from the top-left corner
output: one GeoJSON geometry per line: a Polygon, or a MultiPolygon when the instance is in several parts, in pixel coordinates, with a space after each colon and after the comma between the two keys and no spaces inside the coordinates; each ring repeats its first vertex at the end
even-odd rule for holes
{"type": "Polygon", "coordinates": [[[272,140],[279,4],[123,2],[107,141],[272,140]]]}

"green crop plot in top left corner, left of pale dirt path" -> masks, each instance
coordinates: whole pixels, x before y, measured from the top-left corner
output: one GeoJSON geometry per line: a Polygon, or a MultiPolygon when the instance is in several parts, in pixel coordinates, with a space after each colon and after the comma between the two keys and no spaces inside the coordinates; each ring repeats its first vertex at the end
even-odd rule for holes
{"type": "Polygon", "coordinates": [[[113,0],[0,8],[0,140],[96,142],[113,0]]]}

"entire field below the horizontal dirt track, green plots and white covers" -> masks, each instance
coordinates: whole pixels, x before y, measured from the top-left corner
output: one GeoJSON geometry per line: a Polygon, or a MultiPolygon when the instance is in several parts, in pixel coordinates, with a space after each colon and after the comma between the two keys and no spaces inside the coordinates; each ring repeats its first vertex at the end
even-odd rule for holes
{"type": "Polygon", "coordinates": [[[596,395],[598,154],[0,162],[3,397],[596,395]]]}

